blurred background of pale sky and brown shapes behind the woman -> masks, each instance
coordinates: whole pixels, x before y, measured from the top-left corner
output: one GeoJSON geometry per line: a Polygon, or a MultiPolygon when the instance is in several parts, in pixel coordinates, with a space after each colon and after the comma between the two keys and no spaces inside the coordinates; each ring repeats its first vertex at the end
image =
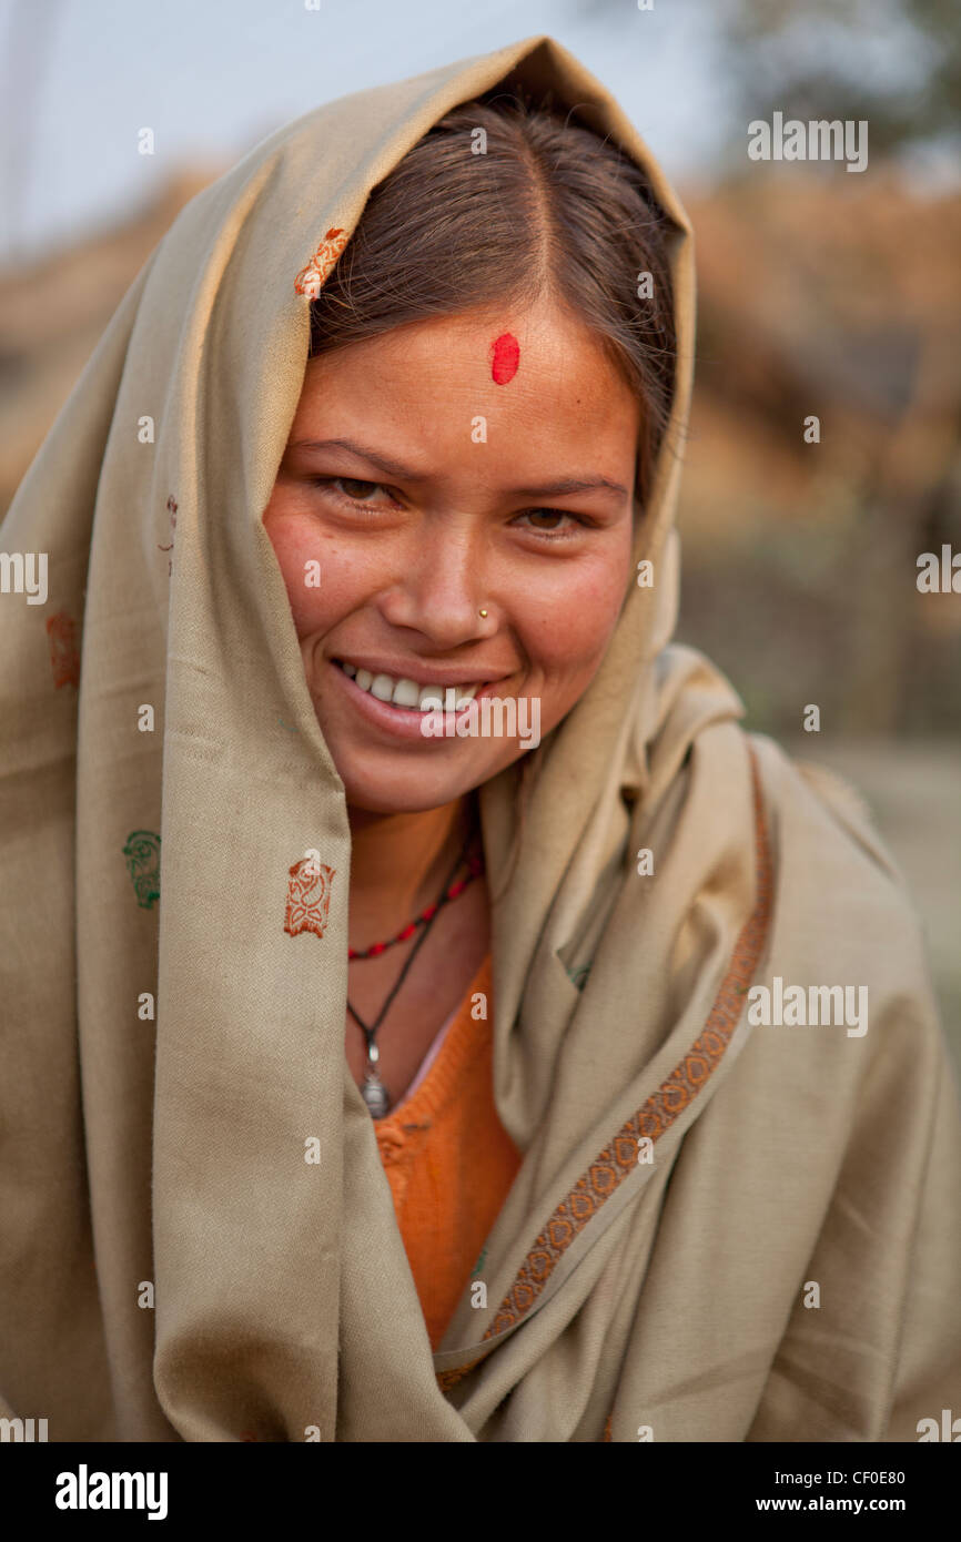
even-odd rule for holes
{"type": "Polygon", "coordinates": [[[319,102],[551,34],[697,236],[679,635],[750,726],[865,797],[961,1062],[961,594],[916,588],[919,554],[961,552],[961,6],[642,3],[3,0],[0,513],[208,180],[319,102]],[[748,123],[776,109],[867,120],[867,170],[750,160],[748,123]]]}

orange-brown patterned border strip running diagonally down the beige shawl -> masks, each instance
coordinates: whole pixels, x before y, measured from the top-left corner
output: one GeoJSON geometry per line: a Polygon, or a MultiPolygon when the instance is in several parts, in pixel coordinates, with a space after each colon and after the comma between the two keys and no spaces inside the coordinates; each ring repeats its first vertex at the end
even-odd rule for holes
{"type": "MultiPolygon", "coordinates": [[[[744,998],[751,984],[768,933],[773,896],[771,854],[764,817],[760,774],[757,771],[757,756],[750,743],[748,756],[754,794],[757,901],[734,944],[731,962],[714,998],[714,1005],[708,1013],[708,1021],[700,1036],[694,1041],[680,1064],[674,1067],[668,1079],[620,1127],[614,1140],[594,1158],[586,1173],[577,1180],[566,1200],[561,1200],[557,1206],[520,1266],[514,1284],[484,1334],[484,1340],[506,1332],[507,1328],[514,1328],[524,1312],[531,1309],[571,1243],[582,1234],[588,1221],[611,1198],[625,1178],[636,1170],[639,1140],[649,1136],[652,1141],[657,1141],[669,1130],[674,1119],[683,1113],[706,1084],[708,1076],[720,1064],[731,1041],[731,1035],[740,1019],[744,998]]],[[[484,1359],[484,1355],[480,1359],[484,1359]]],[[[446,1392],[455,1386],[475,1365],[478,1365],[478,1359],[463,1368],[438,1372],[441,1391],[446,1392]]]]}

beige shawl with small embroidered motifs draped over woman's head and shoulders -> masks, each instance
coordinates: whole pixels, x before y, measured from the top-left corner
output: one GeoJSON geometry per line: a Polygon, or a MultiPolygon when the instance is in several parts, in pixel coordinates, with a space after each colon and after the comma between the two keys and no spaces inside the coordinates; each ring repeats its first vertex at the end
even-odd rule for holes
{"type": "MultiPolygon", "coordinates": [[[[859,800],[669,641],[693,328],[683,210],[546,37],[273,134],[128,290],[0,541],[48,555],[45,603],[0,595],[5,1416],[51,1440],[808,1442],[961,1411],[961,1126],[913,911],[859,800]],[[262,512],[312,295],[370,190],[501,82],[651,179],[677,396],[636,518],[654,584],[631,574],[546,737],[492,907],[523,1164],[432,1354],[346,1062],[344,785],[262,512]],[[867,1032],[751,1024],[777,978],[865,987],[867,1032]]],[[[494,896],[518,769],[480,793],[494,896]]]]}

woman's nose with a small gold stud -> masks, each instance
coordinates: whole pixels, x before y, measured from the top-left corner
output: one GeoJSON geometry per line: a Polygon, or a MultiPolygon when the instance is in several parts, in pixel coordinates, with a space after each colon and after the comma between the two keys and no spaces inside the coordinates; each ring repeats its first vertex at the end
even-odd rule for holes
{"type": "Polygon", "coordinates": [[[392,626],[420,632],[438,651],[491,635],[497,608],[481,530],[455,518],[430,521],[404,566],[381,601],[392,626]]]}

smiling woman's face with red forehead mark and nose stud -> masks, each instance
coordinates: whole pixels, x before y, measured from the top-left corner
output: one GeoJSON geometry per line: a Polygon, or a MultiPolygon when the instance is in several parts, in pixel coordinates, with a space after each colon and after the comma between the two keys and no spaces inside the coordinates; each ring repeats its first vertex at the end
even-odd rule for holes
{"type": "Polygon", "coordinates": [[[639,426],[591,333],[546,302],[307,364],[264,524],[352,806],[440,808],[526,752],[535,711],[543,737],[574,706],[628,583],[639,426]],[[475,732],[426,736],[376,695],[400,680],[450,705],[477,683],[475,732]],[[504,703],[486,734],[483,695],[504,703]]]}

